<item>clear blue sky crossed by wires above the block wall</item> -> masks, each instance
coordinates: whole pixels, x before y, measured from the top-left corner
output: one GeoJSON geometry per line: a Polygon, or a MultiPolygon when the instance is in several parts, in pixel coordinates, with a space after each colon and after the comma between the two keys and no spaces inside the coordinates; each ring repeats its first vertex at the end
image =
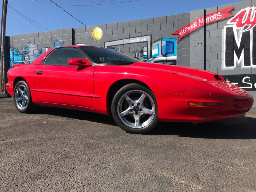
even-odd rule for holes
{"type": "MultiPolygon", "coordinates": [[[[122,4],[92,5],[116,3],[129,0],[53,0],[57,2],[98,2],[87,3],[90,6],[60,5],[85,25],[99,25],[120,21],[145,19],[186,13],[197,9],[238,2],[234,0],[139,0],[122,4]],[[106,2],[103,2],[106,1],[106,2]]],[[[2,2],[2,1],[1,1],[2,2]]],[[[28,18],[36,21],[49,30],[60,28],[83,27],[83,24],[69,16],[50,0],[8,0],[8,4],[28,18]]],[[[2,6],[2,3],[1,3],[2,6]]],[[[39,28],[42,28],[38,26],[39,28]]],[[[43,31],[46,29],[42,28],[43,31]]],[[[6,36],[40,32],[40,30],[8,7],[6,20],[6,36]]]]}

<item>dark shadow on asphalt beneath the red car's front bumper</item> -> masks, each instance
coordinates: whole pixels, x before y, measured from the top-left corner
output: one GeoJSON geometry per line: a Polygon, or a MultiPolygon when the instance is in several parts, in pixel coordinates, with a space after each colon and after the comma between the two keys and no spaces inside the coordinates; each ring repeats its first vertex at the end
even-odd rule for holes
{"type": "Polygon", "coordinates": [[[256,118],[243,116],[202,124],[161,122],[148,134],[204,139],[256,139],[256,118]]]}

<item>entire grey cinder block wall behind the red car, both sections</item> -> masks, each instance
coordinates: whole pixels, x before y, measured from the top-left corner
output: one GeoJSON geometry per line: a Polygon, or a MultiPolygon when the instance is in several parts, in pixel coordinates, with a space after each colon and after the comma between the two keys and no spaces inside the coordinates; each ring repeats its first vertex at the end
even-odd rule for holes
{"type": "MultiPolygon", "coordinates": [[[[165,60],[168,63],[172,58],[169,64],[219,73],[227,81],[250,92],[256,99],[256,54],[254,56],[253,53],[256,53],[254,40],[256,27],[247,33],[238,30],[235,23],[228,24],[228,20],[233,17],[231,16],[204,24],[203,27],[182,37],[177,43],[178,35],[173,35],[178,29],[202,16],[206,17],[228,7],[234,7],[229,13],[236,15],[242,9],[250,9],[252,6],[256,6],[256,0],[219,5],[177,15],[9,36],[8,49],[11,58],[9,67],[13,63],[31,63],[42,52],[54,47],[85,44],[115,49],[148,62],[165,60]],[[91,32],[96,27],[102,30],[102,37],[99,40],[91,37],[91,32]],[[237,33],[232,32],[232,29],[237,33]],[[240,36],[242,36],[241,42],[240,36]],[[172,53],[170,50],[168,54],[163,52],[166,42],[175,44],[172,53]],[[232,54],[238,59],[233,59],[232,54]],[[176,59],[175,63],[172,63],[174,58],[172,56],[176,59]]],[[[256,100],[254,105],[256,106],[256,100]]]]}

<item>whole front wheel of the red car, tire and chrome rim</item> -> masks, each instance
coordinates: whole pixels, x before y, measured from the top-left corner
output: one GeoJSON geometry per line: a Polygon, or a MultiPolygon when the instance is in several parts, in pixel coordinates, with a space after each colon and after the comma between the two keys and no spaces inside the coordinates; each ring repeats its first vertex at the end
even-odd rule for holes
{"type": "Polygon", "coordinates": [[[116,92],[111,106],[116,124],[126,132],[145,133],[158,123],[154,93],[139,84],[127,84],[116,92]]]}

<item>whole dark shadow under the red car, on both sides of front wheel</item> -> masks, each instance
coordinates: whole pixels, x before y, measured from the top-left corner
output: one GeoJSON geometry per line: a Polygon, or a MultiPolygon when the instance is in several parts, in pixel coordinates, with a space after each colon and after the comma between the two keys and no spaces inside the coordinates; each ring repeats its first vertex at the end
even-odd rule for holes
{"type": "MultiPolygon", "coordinates": [[[[116,126],[111,116],[84,111],[42,106],[36,113],[116,126]]],[[[256,118],[243,116],[202,124],[160,122],[156,129],[146,135],[177,135],[206,139],[256,139],[256,118]]]]}

